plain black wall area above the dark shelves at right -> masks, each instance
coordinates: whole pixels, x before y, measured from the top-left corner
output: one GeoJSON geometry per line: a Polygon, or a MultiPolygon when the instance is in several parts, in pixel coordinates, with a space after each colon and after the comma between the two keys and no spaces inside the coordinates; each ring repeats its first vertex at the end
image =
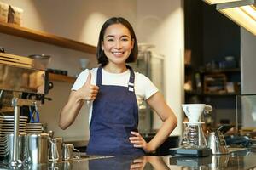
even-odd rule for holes
{"type": "MultiPolygon", "coordinates": [[[[240,27],[213,5],[203,3],[203,61],[204,65],[224,61],[225,56],[240,60],[240,27]]],[[[239,66],[239,65],[237,65],[239,66]]]]}

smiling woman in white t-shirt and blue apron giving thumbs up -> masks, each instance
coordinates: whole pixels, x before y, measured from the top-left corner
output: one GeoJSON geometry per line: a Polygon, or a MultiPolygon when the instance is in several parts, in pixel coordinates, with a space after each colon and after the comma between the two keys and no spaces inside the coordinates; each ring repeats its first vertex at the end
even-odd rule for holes
{"type": "Polygon", "coordinates": [[[70,126],[84,104],[90,104],[90,155],[144,155],[153,152],[177,126],[177,118],[154,84],[126,65],[137,59],[137,38],[121,17],[107,20],[100,31],[97,59],[100,66],[83,71],[61,110],[60,127],[70,126]],[[163,121],[146,142],[137,132],[137,100],[145,99],[163,121]]]}

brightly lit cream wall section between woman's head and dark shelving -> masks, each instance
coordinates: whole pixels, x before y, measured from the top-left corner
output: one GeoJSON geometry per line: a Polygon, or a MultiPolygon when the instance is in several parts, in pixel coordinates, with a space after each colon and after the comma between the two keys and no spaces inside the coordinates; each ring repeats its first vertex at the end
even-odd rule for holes
{"type": "MultiPolygon", "coordinates": [[[[165,56],[166,102],[179,122],[172,135],[179,135],[183,102],[183,1],[137,1],[136,31],[140,42],[154,44],[154,51],[165,56]]],[[[159,128],[160,124],[160,119],[154,115],[153,128],[159,128]]]]}

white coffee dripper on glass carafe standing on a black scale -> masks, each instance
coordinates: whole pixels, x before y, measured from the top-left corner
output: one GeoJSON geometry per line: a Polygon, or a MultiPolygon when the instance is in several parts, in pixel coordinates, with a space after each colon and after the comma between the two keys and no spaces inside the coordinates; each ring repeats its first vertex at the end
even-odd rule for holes
{"type": "Polygon", "coordinates": [[[185,129],[179,148],[170,149],[172,156],[210,156],[212,150],[207,147],[207,140],[202,131],[201,114],[212,111],[211,105],[184,104],[182,105],[189,122],[183,122],[185,129]]]}

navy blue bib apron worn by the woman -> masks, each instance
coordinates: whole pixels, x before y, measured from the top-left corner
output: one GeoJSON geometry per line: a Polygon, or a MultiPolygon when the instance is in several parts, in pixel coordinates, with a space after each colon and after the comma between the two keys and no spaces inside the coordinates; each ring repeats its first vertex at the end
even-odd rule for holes
{"type": "Polygon", "coordinates": [[[137,132],[138,106],[134,72],[128,68],[128,87],[102,85],[102,67],[97,70],[96,85],[100,89],[93,102],[88,155],[144,155],[143,149],[133,147],[129,140],[131,131],[137,132]]]}

